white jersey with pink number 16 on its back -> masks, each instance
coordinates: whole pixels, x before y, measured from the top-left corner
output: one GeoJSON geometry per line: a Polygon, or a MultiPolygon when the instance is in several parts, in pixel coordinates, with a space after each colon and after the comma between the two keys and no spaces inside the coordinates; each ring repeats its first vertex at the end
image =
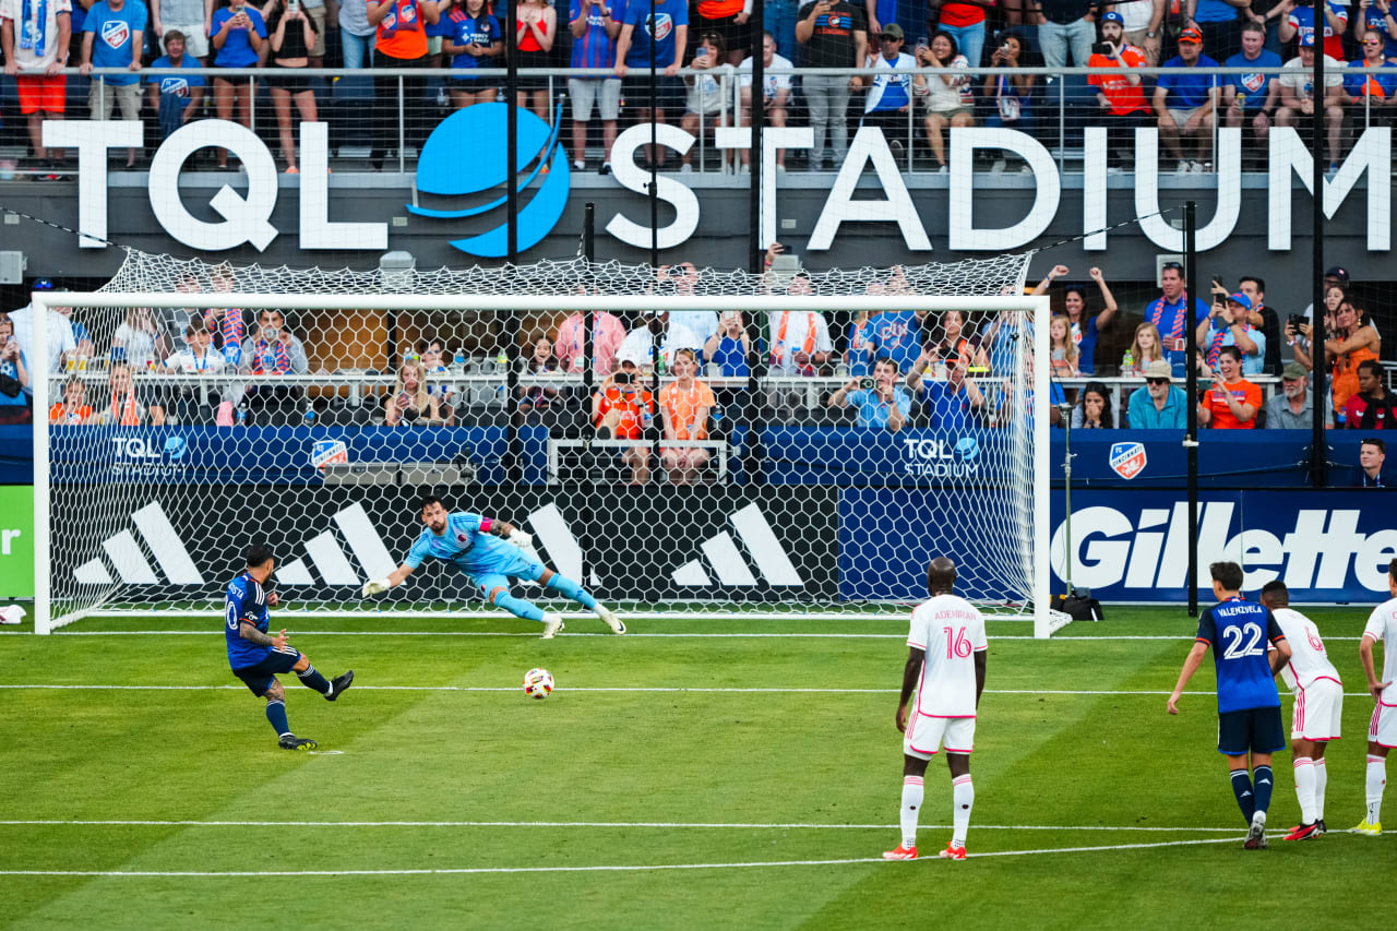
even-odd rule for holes
{"type": "Polygon", "coordinates": [[[912,611],[907,646],[926,650],[912,707],[930,717],[975,717],[974,654],[989,649],[975,605],[956,596],[923,601],[912,611]]]}

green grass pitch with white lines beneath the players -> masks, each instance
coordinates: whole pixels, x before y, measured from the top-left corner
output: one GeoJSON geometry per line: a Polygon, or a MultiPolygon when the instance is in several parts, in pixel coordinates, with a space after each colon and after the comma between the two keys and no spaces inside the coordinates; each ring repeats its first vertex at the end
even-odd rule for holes
{"type": "MultiPolygon", "coordinates": [[[[1347,693],[1329,753],[1334,833],[1280,840],[1299,816],[1287,751],[1260,853],[1242,850],[1215,752],[1210,663],[1182,716],[1165,713],[1193,622],[1108,611],[1051,642],[989,625],[967,863],[870,861],[898,840],[902,621],[637,619],[634,635],[862,636],[616,637],[578,619],[542,642],[503,614],[298,619],[293,646],[327,674],[356,672],[334,705],[284,677],[292,728],[338,751],[317,755],[277,749],[263,702],[229,675],[218,616],[3,635],[0,927],[1252,928],[1380,914],[1393,839],[1338,833],[1363,814],[1369,608],[1310,612],[1347,693]],[[117,633],[148,629],[180,633],[117,633]],[[518,688],[535,665],[557,679],[542,702],[518,688]]],[[[950,837],[950,808],[937,759],[923,857],[950,837]]]]}

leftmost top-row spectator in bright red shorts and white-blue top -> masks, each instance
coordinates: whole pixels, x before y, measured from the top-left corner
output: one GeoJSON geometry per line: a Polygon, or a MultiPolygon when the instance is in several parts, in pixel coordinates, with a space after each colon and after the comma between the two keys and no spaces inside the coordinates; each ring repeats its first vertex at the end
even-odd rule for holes
{"type": "Polygon", "coordinates": [[[0,3],[0,43],[4,73],[15,80],[20,113],[29,127],[29,148],[41,179],[54,179],[59,152],[43,145],[43,120],[61,120],[67,96],[68,45],[73,36],[71,0],[0,3]],[[15,38],[18,36],[18,42],[15,38]]]}

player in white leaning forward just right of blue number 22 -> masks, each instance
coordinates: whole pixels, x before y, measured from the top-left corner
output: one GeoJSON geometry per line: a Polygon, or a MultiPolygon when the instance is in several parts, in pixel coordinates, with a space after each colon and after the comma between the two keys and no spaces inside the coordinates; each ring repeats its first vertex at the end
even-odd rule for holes
{"type": "Polygon", "coordinates": [[[1324,653],[1319,628],[1291,608],[1291,593],[1280,579],[1261,586],[1261,604],[1271,609],[1291,646],[1291,661],[1281,678],[1295,693],[1291,713],[1291,752],[1295,765],[1295,798],[1301,802],[1301,823],[1285,840],[1319,837],[1324,826],[1324,749],[1340,737],[1344,717],[1344,684],[1324,653]]]}

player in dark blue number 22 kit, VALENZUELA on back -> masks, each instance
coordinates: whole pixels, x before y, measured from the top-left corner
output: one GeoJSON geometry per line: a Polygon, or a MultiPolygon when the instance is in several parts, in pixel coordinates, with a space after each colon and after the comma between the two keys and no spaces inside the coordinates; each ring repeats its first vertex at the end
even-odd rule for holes
{"type": "Polygon", "coordinates": [[[1275,787],[1271,753],[1285,748],[1275,674],[1289,661],[1291,647],[1270,608],[1242,597],[1242,566],[1214,562],[1208,572],[1218,602],[1199,615],[1199,633],[1169,695],[1168,709],[1169,714],[1179,713],[1183,686],[1213,647],[1218,677],[1218,752],[1227,756],[1232,794],[1250,825],[1245,847],[1266,850],[1266,812],[1275,787]],[[1274,647],[1274,658],[1267,656],[1267,642],[1274,647]]]}

